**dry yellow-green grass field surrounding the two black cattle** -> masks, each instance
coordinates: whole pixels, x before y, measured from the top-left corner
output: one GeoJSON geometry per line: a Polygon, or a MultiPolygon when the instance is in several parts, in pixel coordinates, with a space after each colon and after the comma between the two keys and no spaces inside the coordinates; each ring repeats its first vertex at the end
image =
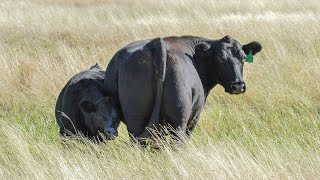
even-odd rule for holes
{"type": "Polygon", "coordinates": [[[318,179],[320,1],[0,1],[1,179],[318,179]],[[58,93],[75,73],[138,39],[231,35],[263,50],[247,92],[211,91],[179,150],[62,142],[58,93]]]}

